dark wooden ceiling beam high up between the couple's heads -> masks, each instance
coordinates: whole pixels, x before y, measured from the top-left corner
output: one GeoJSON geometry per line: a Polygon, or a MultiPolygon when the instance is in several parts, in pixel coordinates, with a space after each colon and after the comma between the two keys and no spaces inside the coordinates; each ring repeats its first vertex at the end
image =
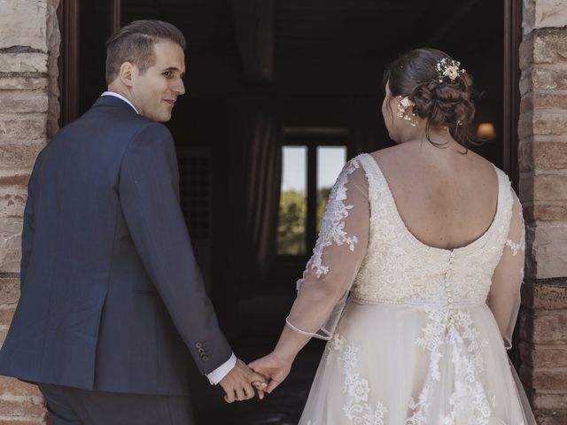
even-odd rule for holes
{"type": "Polygon", "coordinates": [[[274,80],[274,0],[231,0],[246,81],[274,80]]]}

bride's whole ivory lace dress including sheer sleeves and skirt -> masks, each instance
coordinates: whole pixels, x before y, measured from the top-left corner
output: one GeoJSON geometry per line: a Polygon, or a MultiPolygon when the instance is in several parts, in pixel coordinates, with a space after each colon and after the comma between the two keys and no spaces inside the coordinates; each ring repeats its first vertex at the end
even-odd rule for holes
{"type": "Polygon", "coordinates": [[[492,224],[444,250],[409,232],[374,158],[346,164],[287,320],[332,338],[300,424],[535,423],[501,343],[511,344],[517,318],[524,221],[494,169],[492,224]],[[342,419],[318,415],[334,405],[342,419]]]}

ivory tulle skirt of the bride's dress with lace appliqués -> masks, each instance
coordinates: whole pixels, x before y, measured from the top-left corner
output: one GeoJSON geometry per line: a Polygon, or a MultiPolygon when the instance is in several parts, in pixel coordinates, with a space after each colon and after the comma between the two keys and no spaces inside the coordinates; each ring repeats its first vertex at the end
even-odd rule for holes
{"type": "Polygon", "coordinates": [[[484,303],[353,300],[299,425],[535,425],[515,374],[484,303]]]}

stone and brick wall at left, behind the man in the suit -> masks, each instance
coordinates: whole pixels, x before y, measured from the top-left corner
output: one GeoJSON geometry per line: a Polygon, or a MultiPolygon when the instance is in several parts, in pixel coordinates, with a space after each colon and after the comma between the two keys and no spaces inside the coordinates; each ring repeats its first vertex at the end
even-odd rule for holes
{"type": "MultiPolygon", "coordinates": [[[[19,298],[21,226],[35,157],[57,131],[58,0],[0,0],[0,343],[19,298]]],[[[45,423],[35,386],[0,377],[0,423],[45,423]]]]}

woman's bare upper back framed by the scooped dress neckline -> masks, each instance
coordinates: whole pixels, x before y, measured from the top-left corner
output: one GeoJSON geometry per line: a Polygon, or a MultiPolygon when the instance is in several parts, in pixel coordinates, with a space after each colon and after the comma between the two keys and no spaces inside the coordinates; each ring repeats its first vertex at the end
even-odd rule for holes
{"type": "Polygon", "coordinates": [[[430,246],[453,249],[482,236],[498,201],[494,167],[455,142],[445,149],[427,140],[376,151],[408,230],[430,246]],[[461,152],[461,153],[460,153],[461,152]]]}

